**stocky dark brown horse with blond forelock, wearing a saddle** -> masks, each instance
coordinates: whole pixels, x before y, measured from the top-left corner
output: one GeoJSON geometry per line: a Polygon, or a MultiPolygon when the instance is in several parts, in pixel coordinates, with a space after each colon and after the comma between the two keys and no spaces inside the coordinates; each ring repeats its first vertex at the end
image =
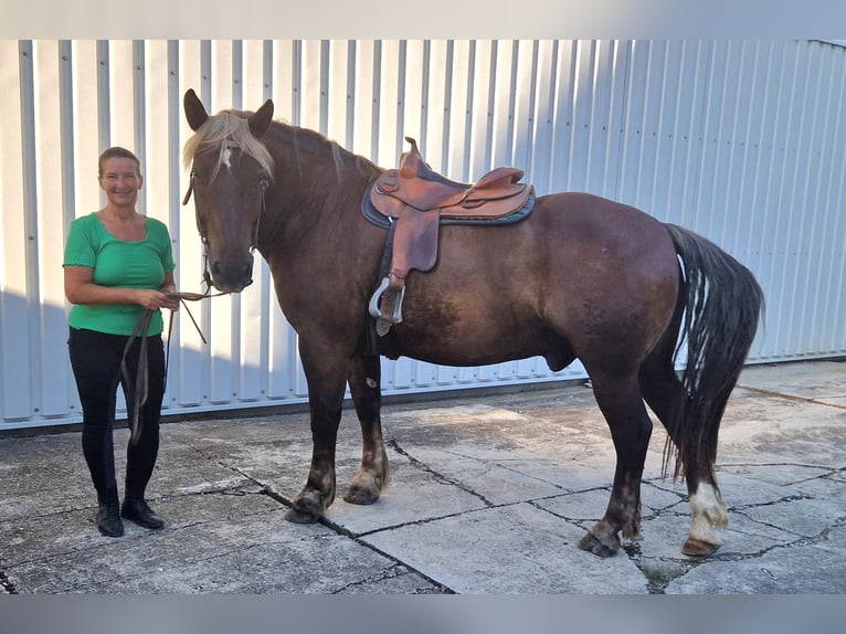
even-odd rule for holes
{"type": "Polygon", "coordinates": [[[675,444],[676,475],[687,479],[692,517],[683,552],[719,547],[713,527],[728,516],[713,473],[717,434],[763,304],[745,267],[631,207],[586,193],[543,196],[510,225],[442,225],[436,266],[409,276],[403,320],[370,338],[373,349],[367,307],[387,230],[364,218],[361,201],[384,170],[315,131],[273,121],[269,99],[255,113],[209,116],[188,91],[184,109],[195,130],[184,159],[209,282],[242,290],[257,249],[299,335],[314,447],[288,520],[316,521],[335,498],[347,383],[363,450],[343,499],[379,498],[388,482],[380,353],[446,366],[542,356],[553,371],[579,358],[616,451],[607,509],[579,546],[606,557],[621,531],[639,532],[652,433],[645,400],[675,444]],[[680,374],[679,335],[687,342],[680,374]]]}

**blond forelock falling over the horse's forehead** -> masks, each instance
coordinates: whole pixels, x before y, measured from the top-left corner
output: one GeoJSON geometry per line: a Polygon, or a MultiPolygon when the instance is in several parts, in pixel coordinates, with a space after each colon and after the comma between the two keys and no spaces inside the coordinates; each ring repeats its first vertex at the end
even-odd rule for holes
{"type": "Polygon", "coordinates": [[[186,169],[191,168],[191,162],[197,154],[216,151],[218,162],[211,175],[211,179],[214,180],[221,165],[223,165],[223,155],[226,148],[237,147],[242,152],[258,161],[268,178],[273,178],[273,157],[264,144],[250,133],[250,126],[244,115],[236,114],[235,110],[223,110],[205,119],[200,129],[186,141],[182,152],[182,162],[186,169]]]}

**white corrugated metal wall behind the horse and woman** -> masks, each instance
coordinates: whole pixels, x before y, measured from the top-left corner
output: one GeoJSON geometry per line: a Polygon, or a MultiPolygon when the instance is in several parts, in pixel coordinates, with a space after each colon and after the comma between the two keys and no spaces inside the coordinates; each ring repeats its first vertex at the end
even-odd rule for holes
{"type": "MultiPolygon", "coordinates": [[[[539,193],[584,190],[694,229],[759,276],[752,361],[846,353],[846,50],[794,41],[0,41],[0,430],[80,420],[66,351],[67,225],[102,204],[96,159],[137,151],[140,210],[165,221],[180,288],[200,288],[180,199],[181,97],[256,108],[384,167],[403,137],[450,177],[500,165],[539,193]]],[[[166,413],[303,402],[296,337],[266,267],[192,307],[166,413]]],[[[577,378],[540,359],[383,362],[385,393],[577,378]]]]}

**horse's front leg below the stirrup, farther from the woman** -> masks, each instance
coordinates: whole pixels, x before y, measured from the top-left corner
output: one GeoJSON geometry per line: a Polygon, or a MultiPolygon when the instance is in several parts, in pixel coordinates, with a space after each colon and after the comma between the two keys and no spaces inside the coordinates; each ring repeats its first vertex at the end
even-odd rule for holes
{"type": "Polygon", "coordinates": [[[388,484],[388,455],[380,418],[382,395],[379,357],[353,357],[347,380],[361,423],[362,448],[361,466],[352,477],[343,499],[351,504],[373,504],[388,484]]]}

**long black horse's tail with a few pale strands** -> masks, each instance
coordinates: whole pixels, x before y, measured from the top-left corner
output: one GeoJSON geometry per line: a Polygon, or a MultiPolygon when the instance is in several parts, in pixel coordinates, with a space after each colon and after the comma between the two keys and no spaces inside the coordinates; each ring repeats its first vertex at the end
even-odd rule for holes
{"type": "MultiPolygon", "coordinates": [[[[691,459],[717,459],[717,436],[726,403],[752,346],[764,297],[752,273],[719,246],[696,233],[666,224],[681,260],[679,304],[685,317],[676,357],[686,346],[687,366],[680,374],[686,398],[668,427],[675,430],[678,477],[686,454],[691,459]]],[[[671,445],[667,441],[664,469],[671,445]]]]}

